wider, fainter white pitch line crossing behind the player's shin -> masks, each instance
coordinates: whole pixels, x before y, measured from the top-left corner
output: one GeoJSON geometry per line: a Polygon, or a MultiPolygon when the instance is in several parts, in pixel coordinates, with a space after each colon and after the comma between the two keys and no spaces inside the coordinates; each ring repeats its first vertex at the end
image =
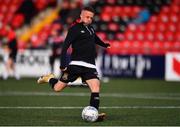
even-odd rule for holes
{"type": "MultiPolygon", "coordinates": [[[[0,96],[90,96],[90,93],[55,93],[55,92],[0,92],[0,96]]],[[[102,93],[101,97],[180,100],[180,93],[102,93]]]]}

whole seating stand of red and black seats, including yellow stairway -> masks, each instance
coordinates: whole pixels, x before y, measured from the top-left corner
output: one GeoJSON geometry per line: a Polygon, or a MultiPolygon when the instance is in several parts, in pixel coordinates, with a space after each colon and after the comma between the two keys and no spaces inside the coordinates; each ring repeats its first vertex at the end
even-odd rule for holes
{"type": "MultiPolygon", "coordinates": [[[[25,0],[0,1],[0,34],[3,35],[4,26],[10,24],[16,30],[20,49],[45,48],[51,30],[62,31],[64,25],[67,25],[61,22],[62,17],[59,15],[63,10],[62,4],[55,0],[35,1],[32,4],[37,13],[27,21],[28,12],[21,6],[24,2],[25,0]]],[[[94,19],[97,34],[111,43],[108,53],[163,55],[169,51],[180,51],[179,0],[89,2],[97,12],[94,19]],[[140,14],[144,9],[149,11],[147,20],[133,22],[143,16],[140,14]]],[[[77,3],[78,8],[83,5],[82,0],[77,3]]]]}

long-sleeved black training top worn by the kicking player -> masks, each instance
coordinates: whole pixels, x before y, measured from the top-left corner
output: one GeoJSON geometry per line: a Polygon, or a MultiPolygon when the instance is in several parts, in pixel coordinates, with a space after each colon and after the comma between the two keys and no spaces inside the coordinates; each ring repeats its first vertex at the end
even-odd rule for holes
{"type": "Polygon", "coordinates": [[[102,47],[109,46],[101,41],[91,25],[85,26],[83,23],[74,24],[69,28],[63,43],[60,68],[67,67],[66,53],[70,45],[72,45],[71,62],[76,63],[78,61],[95,65],[96,44],[102,47]]]}

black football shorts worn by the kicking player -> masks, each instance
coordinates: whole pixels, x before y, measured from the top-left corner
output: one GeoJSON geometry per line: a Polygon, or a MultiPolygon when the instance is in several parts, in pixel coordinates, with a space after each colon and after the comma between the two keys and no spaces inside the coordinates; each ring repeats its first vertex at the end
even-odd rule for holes
{"type": "Polygon", "coordinates": [[[95,68],[69,65],[67,70],[62,73],[60,77],[60,81],[64,83],[73,82],[78,77],[81,77],[83,82],[89,79],[94,79],[94,78],[99,79],[98,73],[95,68]]]}

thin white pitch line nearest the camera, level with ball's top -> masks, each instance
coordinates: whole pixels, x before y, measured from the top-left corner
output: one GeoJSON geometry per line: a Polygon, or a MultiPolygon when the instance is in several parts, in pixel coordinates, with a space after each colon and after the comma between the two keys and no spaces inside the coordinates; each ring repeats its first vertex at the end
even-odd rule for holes
{"type": "MultiPolygon", "coordinates": [[[[0,109],[83,109],[84,107],[0,106],[0,109]]],[[[180,106],[110,106],[100,109],[180,109],[180,106]]]]}

